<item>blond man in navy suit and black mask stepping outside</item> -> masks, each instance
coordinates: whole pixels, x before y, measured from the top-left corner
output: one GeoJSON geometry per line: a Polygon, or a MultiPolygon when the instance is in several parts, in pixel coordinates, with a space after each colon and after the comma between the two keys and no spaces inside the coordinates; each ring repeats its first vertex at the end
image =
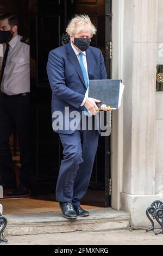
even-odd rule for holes
{"type": "MultiPolygon", "coordinates": [[[[90,46],[96,33],[90,18],[76,15],[66,32],[70,42],[49,53],[47,73],[53,92],[53,130],[59,133],[64,148],[56,199],[66,218],[77,218],[89,215],[80,207],[80,199],[89,186],[98,145],[95,115],[99,113],[96,103],[101,101],[88,97],[89,80],[106,79],[107,75],[101,50],[90,46]],[[81,129],[83,117],[89,121],[92,116],[93,128],[81,129]]],[[[105,105],[101,108],[111,111],[105,105]]]]}

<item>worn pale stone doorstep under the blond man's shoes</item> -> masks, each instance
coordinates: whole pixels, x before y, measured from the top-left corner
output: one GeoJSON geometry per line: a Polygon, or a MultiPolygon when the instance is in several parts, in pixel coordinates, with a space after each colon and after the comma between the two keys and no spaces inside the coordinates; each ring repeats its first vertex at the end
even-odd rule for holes
{"type": "Polygon", "coordinates": [[[52,234],[70,231],[102,231],[127,229],[130,216],[123,211],[110,208],[88,209],[90,216],[68,220],[60,211],[36,214],[5,215],[8,220],[5,235],[52,234]]]}

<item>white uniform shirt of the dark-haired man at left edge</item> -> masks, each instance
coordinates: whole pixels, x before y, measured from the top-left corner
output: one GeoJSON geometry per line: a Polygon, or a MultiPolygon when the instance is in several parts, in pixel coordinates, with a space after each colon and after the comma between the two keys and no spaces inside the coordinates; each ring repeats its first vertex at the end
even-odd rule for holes
{"type": "MultiPolygon", "coordinates": [[[[30,92],[29,45],[21,42],[22,36],[16,35],[9,42],[9,52],[5,65],[1,91],[8,95],[30,92]]],[[[5,52],[6,44],[3,47],[5,52]]],[[[4,54],[3,54],[4,55],[4,54]]],[[[0,57],[0,69],[3,57],[0,57]]]]}

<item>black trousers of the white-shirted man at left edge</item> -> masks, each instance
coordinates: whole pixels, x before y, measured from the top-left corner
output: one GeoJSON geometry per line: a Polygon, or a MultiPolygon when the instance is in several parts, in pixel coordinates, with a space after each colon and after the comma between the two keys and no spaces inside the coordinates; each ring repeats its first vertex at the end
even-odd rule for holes
{"type": "Polygon", "coordinates": [[[0,95],[0,175],[3,183],[15,182],[9,137],[16,131],[20,145],[20,181],[29,185],[29,106],[29,94],[0,95]]]}

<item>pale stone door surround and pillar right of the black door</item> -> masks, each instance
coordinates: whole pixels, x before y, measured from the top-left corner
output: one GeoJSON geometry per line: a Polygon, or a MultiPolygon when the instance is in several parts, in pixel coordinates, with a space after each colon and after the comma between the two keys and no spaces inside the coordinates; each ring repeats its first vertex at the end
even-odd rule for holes
{"type": "Polygon", "coordinates": [[[112,114],[112,208],[129,211],[134,228],[147,227],[147,207],[163,199],[155,182],[159,1],[112,1],[112,78],[126,86],[125,104],[112,114]]]}

